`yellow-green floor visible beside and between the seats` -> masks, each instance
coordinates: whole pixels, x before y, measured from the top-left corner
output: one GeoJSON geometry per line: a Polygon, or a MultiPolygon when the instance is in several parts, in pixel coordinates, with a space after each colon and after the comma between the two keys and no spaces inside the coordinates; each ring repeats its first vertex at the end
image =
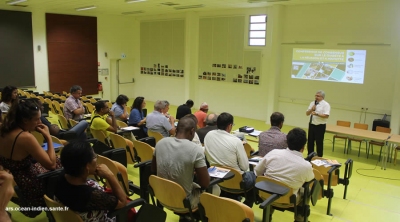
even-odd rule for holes
{"type": "MultiPolygon", "coordinates": [[[[152,110],[153,103],[147,102],[147,107],[152,110]]],[[[170,107],[170,113],[175,114],[176,107],[170,107]]],[[[57,123],[56,117],[51,119],[57,123]]],[[[305,119],[305,121],[307,121],[305,119]]],[[[265,121],[251,120],[245,118],[235,118],[236,127],[253,126],[259,130],[269,128],[265,121]]],[[[290,126],[284,126],[283,132],[288,132],[290,126]]],[[[257,149],[257,144],[250,142],[253,148],[257,149]]],[[[338,141],[335,144],[335,152],[332,152],[332,134],[325,135],[324,141],[324,157],[336,159],[339,162],[345,162],[346,159],[354,160],[353,175],[350,179],[347,199],[343,198],[343,185],[334,187],[334,198],[332,201],[332,216],[326,215],[327,199],[321,199],[316,206],[311,207],[311,215],[309,220],[312,222],[342,222],[342,221],[400,221],[400,163],[394,166],[392,163],[387,164],[386,170],[381,170],[380,162],[378,162],[377,153],[379,149],[375,148],[375,154],[366,158],[365,149],[361,150],[360,157],[357,157],[358,150],[356,144],[353,145],[353,151],[350,154],[343,154],[344,143],[338,141]],[[378,178],[379,177],[379,178],[378,178]]],[[[358,148],[358,147],[357,147],[358,148]]],[[[304,154],[305,155],[305,154],[304,154]]],[[[344,169],[343,169],[344,170],[344,169]]],[[[343,177],[343,170],[341,177],[343,177]]],[[[132,165],[128,166],[129,178],[136,184],[138,181],[138,171],[132,165]]],[[[136,198],[136,196],[133,196],[136,198]]],[[[14,206],[10,203],[9,206],[14,206]]],[[[255,221],[261,221],[262,211],[257,205],[253,206],[255,221]]],[[[168,212],[168,222],[178,221],[178,216],[170,211],[168,212]]],[[[12,212],[13,221],[47,221],[46,215],[42,213],[34,219],[26,218],[19,212],[12,212]]],[[[276,211],[273,221],[293,221],[293,213],[276,211]]]]}

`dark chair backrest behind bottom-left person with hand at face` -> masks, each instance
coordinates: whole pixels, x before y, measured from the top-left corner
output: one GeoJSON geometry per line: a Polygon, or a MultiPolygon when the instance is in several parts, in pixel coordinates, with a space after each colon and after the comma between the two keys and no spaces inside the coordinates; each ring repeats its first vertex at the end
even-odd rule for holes
{"type": "MultiPolygon", "coordinates": [[[[44,195],[44,201],[46,202],[46,205],[49,208],[51,207],[54,209],[66,209],[63,204],[50,199],[46,195],[44,195]]],[[[58,211],[53,210],[50,212],[53,215],[55,221],[57,222],[70,222],[70,221],[83,222],[82,218],[72,210],[58,210],[58,211]]]]}

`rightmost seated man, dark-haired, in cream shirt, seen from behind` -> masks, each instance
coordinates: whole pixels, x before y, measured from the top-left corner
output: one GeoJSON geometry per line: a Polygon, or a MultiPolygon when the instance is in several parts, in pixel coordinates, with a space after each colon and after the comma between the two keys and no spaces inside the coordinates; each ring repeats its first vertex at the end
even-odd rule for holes
{"type": "MultiPolygon", "coordinates": [[[[294,128],[287,135],[287,149],[273,149],[254,169],[256,175],[264,175],[280,181],[293,189],[293,193],[302,195],[301,187],[305,182],[314,179],[311,163],[304,160],[303,151],[307,142],[306,132],[294,128]]],[[[299,200],[301,198],[298,198],[299,200]]],[[[271,210],[272,216],[273,210],[271,210]]],[[[304,221],[299,215],[295,221],[304,221]]]]}

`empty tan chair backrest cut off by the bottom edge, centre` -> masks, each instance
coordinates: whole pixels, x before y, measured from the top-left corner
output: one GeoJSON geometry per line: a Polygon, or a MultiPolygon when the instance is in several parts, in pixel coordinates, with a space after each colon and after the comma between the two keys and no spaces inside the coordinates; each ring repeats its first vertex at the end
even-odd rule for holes
{"type": "Polygon", "coordinates": [[[236,200],[204,192],[200,195],[200,204],[208,222],[244,221],[246,218],[254,221],[253,210],[236,200]]]}

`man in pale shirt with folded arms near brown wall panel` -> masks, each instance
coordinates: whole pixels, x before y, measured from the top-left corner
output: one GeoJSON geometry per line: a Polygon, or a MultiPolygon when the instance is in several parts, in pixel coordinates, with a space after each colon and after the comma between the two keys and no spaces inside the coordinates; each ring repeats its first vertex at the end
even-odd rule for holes
{"type": "Polygon", "coordinates": [[[85,107],[79,100],[82,95],[82,87],[74,85],[71,87],[70,93],[71,95],[64,103],[64,116],[67,120],[73,119],[79,121],[83,119],[83,114],[85,113],[85,107]]]}

